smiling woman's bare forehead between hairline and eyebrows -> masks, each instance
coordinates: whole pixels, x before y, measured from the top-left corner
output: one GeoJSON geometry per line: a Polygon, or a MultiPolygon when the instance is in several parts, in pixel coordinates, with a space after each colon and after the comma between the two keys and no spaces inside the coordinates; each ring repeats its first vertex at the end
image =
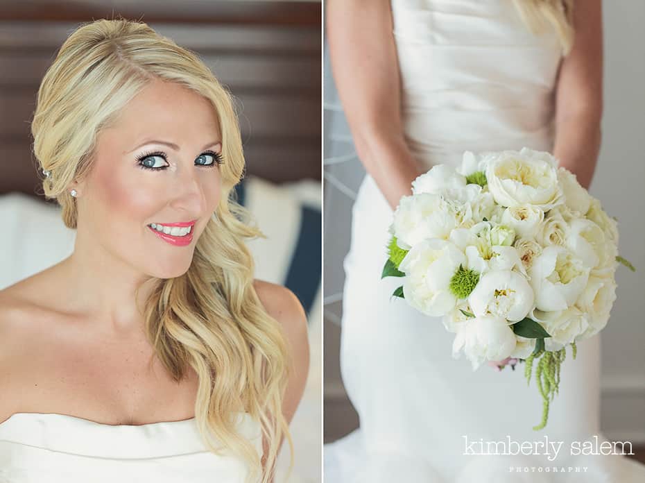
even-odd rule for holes
{"type": "Polygon", "coordinates": [[[153,135],[176,144],[199,144],[221,139],[212,103],[176,83],[155,80],[133,97],[105,130],[105,137],[134,147],[153,135]]]}

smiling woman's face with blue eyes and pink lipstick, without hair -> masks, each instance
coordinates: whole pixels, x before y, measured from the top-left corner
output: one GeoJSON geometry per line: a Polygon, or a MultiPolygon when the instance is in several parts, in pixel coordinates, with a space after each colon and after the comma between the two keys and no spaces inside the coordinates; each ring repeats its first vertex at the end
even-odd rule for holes
{"type": "Polygon", "coordinates": [[[79,235],[149,276],[182,275],[220,201],[221,147],[207,99],[148,84],[98,135],[77,188],[79,235]]]}

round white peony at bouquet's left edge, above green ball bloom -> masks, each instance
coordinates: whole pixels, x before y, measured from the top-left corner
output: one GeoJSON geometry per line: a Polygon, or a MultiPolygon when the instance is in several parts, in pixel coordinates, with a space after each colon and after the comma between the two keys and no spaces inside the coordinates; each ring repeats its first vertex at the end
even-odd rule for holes
{"type": "Polygon", "coordinates": [[[410,248],[429,238],[447,239],[458,214],[438,194],[403,196],[394,212],[393,232],[399,246],[410,248]]]}

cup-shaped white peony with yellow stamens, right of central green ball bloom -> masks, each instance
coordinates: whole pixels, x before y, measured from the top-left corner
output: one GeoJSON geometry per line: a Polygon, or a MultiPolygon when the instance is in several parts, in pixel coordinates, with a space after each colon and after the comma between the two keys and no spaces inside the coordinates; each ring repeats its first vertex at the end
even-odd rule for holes
{"type": "Polygon", "coordinates": [[[492,270],[484,273],[468,296],[473,314],[488,314],[518,322],[533,308],[533,289],[521,273],[492,270]]]}

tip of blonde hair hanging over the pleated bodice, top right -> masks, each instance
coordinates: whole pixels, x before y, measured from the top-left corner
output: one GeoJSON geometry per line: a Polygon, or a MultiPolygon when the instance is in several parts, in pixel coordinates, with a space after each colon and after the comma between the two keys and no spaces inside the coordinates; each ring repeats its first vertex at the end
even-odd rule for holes
{"type": "Polygon", "coordinates": [[[562,54],[567,56],[574,44],[574,0],[513,0],[513,3],[534,34],[551,24],[560,39],[562,54]]]}

